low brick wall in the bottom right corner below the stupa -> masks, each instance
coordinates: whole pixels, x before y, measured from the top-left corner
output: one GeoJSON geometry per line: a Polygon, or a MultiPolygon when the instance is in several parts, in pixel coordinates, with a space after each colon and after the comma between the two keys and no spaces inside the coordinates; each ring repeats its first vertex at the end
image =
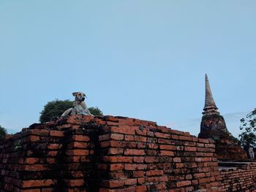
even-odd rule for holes
{"type": "Polygon", "coordinates": [[[225,166],[220,169],[222,191],[256,191],[256,163],[229,163],[225,166]]]}

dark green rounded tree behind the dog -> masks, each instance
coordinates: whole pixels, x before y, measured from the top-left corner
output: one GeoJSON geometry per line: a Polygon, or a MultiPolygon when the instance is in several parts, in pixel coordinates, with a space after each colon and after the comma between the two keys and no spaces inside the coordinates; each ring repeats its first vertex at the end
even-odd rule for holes
{"type": "MultiPolygon", "coordinates": [[[[40,123],[46,123],[53,118],[58,118],[62,115],[65,110],[73,107],[73,101],[55,99],[48,101],[45,104],[44,109],[40,112],[39,121],[40,123]]],[[[89,107],[92,115],[103,115],[102,111],[98,107],[89,107]]]]}

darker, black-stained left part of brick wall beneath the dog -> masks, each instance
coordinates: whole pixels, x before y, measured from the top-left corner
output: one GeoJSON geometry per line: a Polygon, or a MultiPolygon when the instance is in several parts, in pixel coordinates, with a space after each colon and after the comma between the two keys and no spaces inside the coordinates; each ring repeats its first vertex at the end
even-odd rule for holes
{"type": "Polygon", "coordinates": [[[86,191],[94,153],[87,134],[76,124],[49,123],[1,140],[0,191],[86,191]]]}

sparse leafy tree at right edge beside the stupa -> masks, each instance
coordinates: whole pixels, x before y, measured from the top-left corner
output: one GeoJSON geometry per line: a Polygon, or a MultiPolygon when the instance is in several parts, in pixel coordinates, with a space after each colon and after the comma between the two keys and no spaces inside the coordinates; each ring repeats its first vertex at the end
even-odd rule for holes
{"type": "Polygon", "coordinates": [[[256,147],[256,108],[252,112],[246,115],[246,118],[240,120],[240,130],[243,132],[239,135],[241,145],[246,149],[249,145],[256,147]]]}

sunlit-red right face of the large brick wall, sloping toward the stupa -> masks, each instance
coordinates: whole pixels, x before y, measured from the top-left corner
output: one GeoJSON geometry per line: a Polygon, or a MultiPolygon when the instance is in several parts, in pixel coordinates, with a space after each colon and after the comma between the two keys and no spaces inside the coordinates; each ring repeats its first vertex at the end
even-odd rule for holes
{"type": "Polygon", "coordinates": [[[108,177],[99,191],[219,191],[211,140],[148,121],[108,121],[99,136],[98,164],[108,177]]]}

